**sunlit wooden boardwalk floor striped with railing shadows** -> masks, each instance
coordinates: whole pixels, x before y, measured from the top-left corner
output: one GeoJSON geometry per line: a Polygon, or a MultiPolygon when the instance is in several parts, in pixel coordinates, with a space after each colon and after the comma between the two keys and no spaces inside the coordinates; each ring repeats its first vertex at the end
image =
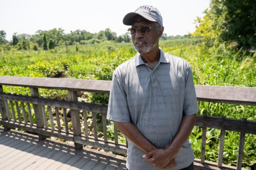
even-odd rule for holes
{"type": "Polygon", "coordinates": [[[0,169],[126,169],[126,158],[112,153],[52,139],[39,141],[38,136],[0,127],[0,169]]]}

